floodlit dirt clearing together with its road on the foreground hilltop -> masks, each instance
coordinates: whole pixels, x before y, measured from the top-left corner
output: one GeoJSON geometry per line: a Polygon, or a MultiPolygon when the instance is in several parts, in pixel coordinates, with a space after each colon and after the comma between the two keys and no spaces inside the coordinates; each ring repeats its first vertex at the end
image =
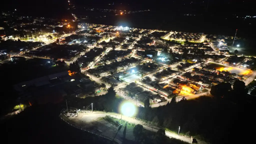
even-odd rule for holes
{"type": "MultiPolygon", "coordinates": [[[[105,117],[106,115],[110,115],[110,116],[112,116],[114,118],[116,117],[118,119],[121,118],[121,115],[119,115],[119,114],[93,112],[93,113],[86,113],[86,114],[80,113],[78,117],[73,116],[73,117],[68,117],[65,119],[68,119],[68,121],[71,124],[76,125],[77,127],[81,127],[83,129],[86,129],[91,132],[95,132],[97,134],[101,134],[105,137],[109,137],[109,138],[113,139],[118,130],[118,127],[116,127],[115,125],[110,126],[110,124],[108,124],[108,122],[102,121],[103,117],[105,117]]],[[[131,117],[122,116],[122,119],[124,119],[130,123],[133,123],[135,125],[141,124],[144,129],[149,130],[149,131],[157,132],[157,130],[158,130],[156,128],[152,128],[152,127],[143,125],[141,121],[138,121],[131,117]]],[[[121,128],[121,130],[118,132],[118,135],[115,138],[115,141],[118,143],[122,143],[123,130],[124,130],[124,126],[121,128]]],[[[132,127],[127,126],[126,139],[128,139],[128,140],[134,139],[132,131],[133,131],[132,127]]],[[[177,134],[171,133],[169,131],[165,131],[165,135],[170,138],[176,138],[176,139],[180,139],[180,140],[191,143],[191,138],[189,138],[189,137],[178,136],[177,134]]],[[[204,143],[204,142],[198,141],[198,143],[204,143]]]]}

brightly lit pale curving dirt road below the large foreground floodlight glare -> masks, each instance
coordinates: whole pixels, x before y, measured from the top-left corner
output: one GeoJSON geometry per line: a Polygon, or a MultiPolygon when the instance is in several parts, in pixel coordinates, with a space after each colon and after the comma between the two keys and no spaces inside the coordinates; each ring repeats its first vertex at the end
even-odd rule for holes
{"type": "MultiPolygon", "coordinates": [[[[90,120],[94,120],[94,119],[97,119],[99,117],[105,117],[106,115],[110,115],[110,116],[112,116],[114,118],[116,117],[116,118],[121,119],[121,115],[120,114],[113,114],[113,113],[109,113],[108,114],[108,113],[102,113],[102,112],[93,112],[93,113],[88,113],[86,115],[89,116],[90,120]]],[[[122,119],[124,119],[126,121],[129,121],[131,123],[134,123],[135,125],[141,124],[143,126],[143,128],[146,129],[146,130],[150,130],[150,131],[154,131],[154,132],[157,132],[157,130],[158,130],[158,129],[155,129],[155,128],[143,125],[140,121],[138,121],[138,120],[136,120],[134,118],[131,118],[131,117],[127,117],[127,116],[123,116],[122,115],[122,119]]],[[[170,137],[170,138],[176,138],[176,139],[180,139],[180,140],[183,140],[183,141],[191,143],[191,138],[189,138],[189,137],[178,136],[177,134],[171,133],[169,131],[165,131],[165,135],[170,137]]],[[[199,143],[201,143],[201,142],[199,142],[199,143]]]]}

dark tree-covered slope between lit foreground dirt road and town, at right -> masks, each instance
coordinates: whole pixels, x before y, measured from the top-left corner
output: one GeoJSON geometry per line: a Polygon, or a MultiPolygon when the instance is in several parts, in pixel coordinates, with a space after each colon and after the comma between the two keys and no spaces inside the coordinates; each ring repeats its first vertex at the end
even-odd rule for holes
{"type": "Polygon", "coordinates": [[[213,97],[201,96],[195,100],[172,101],[158,108],[140,108],[138,118],[151,125],[165,127],[181,135],[193,136],[210,143],[228,143],[235,129],[246,129],[241,123],[248,120],[255,98],[248,95],[244,82],[236,81],[213,86],[213,97]],[[245,111],[247,110],[247,111],[245,111]],[[242,118],[242,119],[241,119],[242,118]],[[222,132],[229,132],[223,135],[222,132]]]}

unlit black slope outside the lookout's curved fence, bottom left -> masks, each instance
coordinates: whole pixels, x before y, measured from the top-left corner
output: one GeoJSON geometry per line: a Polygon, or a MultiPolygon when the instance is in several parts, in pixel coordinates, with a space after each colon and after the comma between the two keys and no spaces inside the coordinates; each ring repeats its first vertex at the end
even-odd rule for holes
{"type": "Polygon", "coordinates": [[[7,143],[113,143],[62,121],[58,115],[63,106],[47,104],[28,107],[19,115],[1,121],[4,131],[1,137],[8,139],[7,143]]]}

